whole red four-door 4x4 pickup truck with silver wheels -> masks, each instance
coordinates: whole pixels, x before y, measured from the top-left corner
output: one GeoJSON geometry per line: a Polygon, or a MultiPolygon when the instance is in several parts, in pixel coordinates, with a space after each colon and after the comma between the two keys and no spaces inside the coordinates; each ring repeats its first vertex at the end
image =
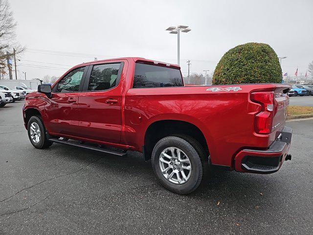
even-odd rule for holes
{"type": "Polygon", "coordinates": [[[211,167],[273,173],[288,154],[289,85],[184,86],[177,65],[119,58],[77,65],[23,107],[31,143],[143,153],[162,185],[190,193],[211,167]]]}

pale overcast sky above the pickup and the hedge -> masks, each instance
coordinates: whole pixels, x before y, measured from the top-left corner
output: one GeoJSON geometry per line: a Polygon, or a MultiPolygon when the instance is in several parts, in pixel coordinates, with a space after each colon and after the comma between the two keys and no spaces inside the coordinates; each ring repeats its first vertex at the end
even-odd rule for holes
{"type": "Polygon", "coordinates": [[[227,50],[247,42],[267,43],[278,56],[288,56],[282,69],[289,74],[299,67],[304,75],[313,61],[313,0],[9,2],[18,22],[17,40],[27,47],[18,66],[21,78],[22,71],[27,79],[60,76],[94,57],[138,56],[177,64],[177,35],[165,29],[179,24],[191,28],[180,36],[183,74],[188,59],[191,72],[214,71],[227,50]]]}

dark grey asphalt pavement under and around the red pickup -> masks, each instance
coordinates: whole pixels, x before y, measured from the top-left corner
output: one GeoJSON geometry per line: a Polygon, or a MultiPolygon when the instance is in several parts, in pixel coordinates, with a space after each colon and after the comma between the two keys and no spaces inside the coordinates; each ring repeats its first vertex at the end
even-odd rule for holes
{"type": "Polygon", "coordinates": [[[22,105],[0,109],[1,235],[312,234],[313,119],[287,123],[292,161],[280,171],[214,172],[205,187],[178,195],[156,181],[139,153],[35,149],[22,105]]]}

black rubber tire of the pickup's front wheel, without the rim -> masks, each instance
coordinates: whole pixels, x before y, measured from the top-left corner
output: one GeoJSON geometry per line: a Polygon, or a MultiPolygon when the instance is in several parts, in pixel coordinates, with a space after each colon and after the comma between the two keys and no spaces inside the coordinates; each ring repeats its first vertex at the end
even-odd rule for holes
{"type": "Polygon", "coordinates": [[[28,132],[28,138],[29,141],[31,142],[31,144],[35,147],[35,148],[47,148],[49,146],[52,145],[53,142],[48,141],[46,134],[45,134],[45,126],[44,126],[44,122],[43,120],[38,117],[38,116],[32,116],[31,118],[29,118],[28,124],[27,124],[27,132],[28,132]],[[40,129],[40,141],[38,143],[34,142],[31,138],[31,134],[30,134],[30,126],[33,122],[36,122],[39,126],[40,129]]]}

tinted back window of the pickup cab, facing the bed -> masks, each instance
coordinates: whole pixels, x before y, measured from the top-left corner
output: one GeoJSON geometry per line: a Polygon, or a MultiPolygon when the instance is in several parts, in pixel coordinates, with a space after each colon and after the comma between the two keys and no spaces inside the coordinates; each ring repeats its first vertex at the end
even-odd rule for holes
{"type": "Polygon", "coordinates": [[[183,83],[179,70],[136,63],[133,88],[181,86],[183,83]]]}

